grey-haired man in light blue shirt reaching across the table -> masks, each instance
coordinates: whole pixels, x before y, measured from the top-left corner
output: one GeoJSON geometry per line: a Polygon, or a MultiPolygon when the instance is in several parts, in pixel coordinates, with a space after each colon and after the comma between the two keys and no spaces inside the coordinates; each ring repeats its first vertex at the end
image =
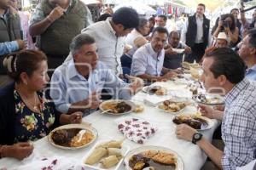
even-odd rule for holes
{"type": "Polygon", "coordinates": [[[128,76],[133,81],[130,84],[120,80],[98,61],[96,50],[95,39],[88,34],[73,38],[70,44],[73,59],[59,66],[50,82],[50,96],[58,111],[82,111],[88,115],[99,106],[102,88],[115,99],[131,99],[143,87],[143,80],[137,77],[128,76]]]}

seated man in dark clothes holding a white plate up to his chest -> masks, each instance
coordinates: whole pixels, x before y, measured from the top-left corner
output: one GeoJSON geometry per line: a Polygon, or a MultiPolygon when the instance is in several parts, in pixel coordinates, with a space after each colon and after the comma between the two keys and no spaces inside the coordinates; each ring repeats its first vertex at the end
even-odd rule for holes
{"type": "Polygon", "coordinates": [[[168,69],[177,69],[181,67],[183,61],[183,54],[190,54],[191,48],[180,42],[180,35],[177,31],[172,31],[168,38],[168,45],[166,46],[166,54],[164,60],[164,67],[168,69]],[[177,53],[173,48],[184,49],[182,53],[177,53]]]}

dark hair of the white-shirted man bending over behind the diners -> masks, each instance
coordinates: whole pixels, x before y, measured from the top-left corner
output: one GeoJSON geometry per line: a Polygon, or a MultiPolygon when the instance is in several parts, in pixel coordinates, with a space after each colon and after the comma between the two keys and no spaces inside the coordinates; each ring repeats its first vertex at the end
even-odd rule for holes
{"type": "Polygon", "coordinates": [[[112,21],[124,26],[124,29],[131,29],[138,26],[139,17],[135,9],[122,7],[113,13],[112,21]]]}

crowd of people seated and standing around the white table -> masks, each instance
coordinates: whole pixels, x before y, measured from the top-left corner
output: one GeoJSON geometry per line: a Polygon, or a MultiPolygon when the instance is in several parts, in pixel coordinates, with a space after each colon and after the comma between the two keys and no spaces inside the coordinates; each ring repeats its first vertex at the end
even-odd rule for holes
{"type": "Polygon", "coordinates": [[[170,31],[166,15],[147,20],[124,7],[92,23],[79,0],[43,0],[24,34],[14,3],[0,0],[0,158],[22,160],[32,153],[29,141],[81,122],[102,99],[131,99],[144,84],[176,77],[188,61],[201,63],[207,90],[224,89],[223,110],[199,105],[203,116],[222,122],[224,150],[184,124],[177,139],[197,144],[212,169],[256,159],[256,10],[250,22],[234,8],[211,31],[200,3],[170,31]],[[36,39],[36,48],[24,35],[36,39]]]}

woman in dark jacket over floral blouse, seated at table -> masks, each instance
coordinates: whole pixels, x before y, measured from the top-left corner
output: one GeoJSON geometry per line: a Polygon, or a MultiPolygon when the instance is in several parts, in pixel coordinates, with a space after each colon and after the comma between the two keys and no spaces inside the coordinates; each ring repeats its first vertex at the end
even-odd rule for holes
{"type": "Polygon", "coordinates": [[[0,158],[22,160],[33,150],[28,141],[43,138],[59,124],[79,123],[82,114],[55,111],[55,105],[40,92],[49,81],[43,52],[9,54],[3,65],[14,82],[0,89],[0,158]]]}

